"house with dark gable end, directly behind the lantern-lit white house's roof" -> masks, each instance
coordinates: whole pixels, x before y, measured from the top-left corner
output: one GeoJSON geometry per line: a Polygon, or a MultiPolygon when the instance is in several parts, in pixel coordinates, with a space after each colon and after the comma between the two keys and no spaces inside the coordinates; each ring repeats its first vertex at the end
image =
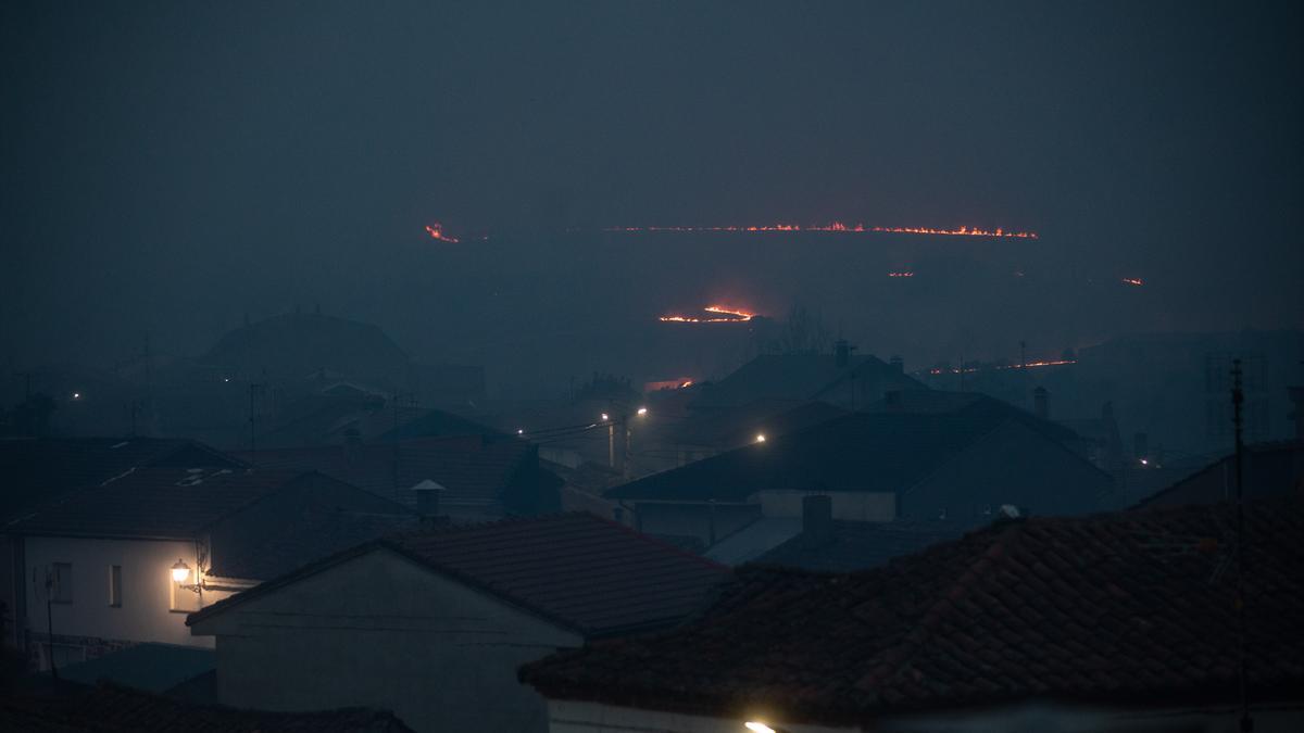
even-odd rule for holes
{"type": "Polygon", "coordinates": [[[539,463],[536,446],[515,436],[454,436],[383,443],[237,453],[263,468],[321,471],[411,507],[419,486],[434,489],[438,511],[455,522],[556,511],[561,479],[539,463]]]}

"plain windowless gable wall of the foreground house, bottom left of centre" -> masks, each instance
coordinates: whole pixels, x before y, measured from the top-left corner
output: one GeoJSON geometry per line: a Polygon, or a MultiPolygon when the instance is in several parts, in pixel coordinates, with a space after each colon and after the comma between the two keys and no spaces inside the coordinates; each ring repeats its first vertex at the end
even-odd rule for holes
{"type": "Polygon", "coordinates": [[[516,668],[583,643],[389,550],[250,599],[193,631],[218,639],[222,703],[379,707],[420,732],[546,730],[546,704],[516,681],[516,668]]]}

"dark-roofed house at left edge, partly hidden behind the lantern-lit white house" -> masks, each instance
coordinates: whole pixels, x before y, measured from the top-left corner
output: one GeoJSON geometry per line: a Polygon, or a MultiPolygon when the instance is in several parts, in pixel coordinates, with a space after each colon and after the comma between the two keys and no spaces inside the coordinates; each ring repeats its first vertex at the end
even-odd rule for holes
{"type": "MultiPolygon", "coordinates": [[[[203,443],[176,438],[13,438],[0,440],[0,527],[57,501],[74,489],[100,484],[138,468],[244,468],[240,460],[203,443]]],[[[13,539],[0,532],[0,638],[20,646],[13,623],[21,608],[21,578],[13,539]]]]}

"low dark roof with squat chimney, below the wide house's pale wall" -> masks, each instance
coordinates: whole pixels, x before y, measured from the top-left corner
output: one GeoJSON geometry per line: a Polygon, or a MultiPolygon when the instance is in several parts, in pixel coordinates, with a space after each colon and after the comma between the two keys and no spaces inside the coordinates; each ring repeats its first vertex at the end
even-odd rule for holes
{"type": "Polygon", "coordinates": [[[827,537],[798,535],[756,558],[762,565],[780,565],[822,573],[852,573],[887,565],[895,557],[965,533],[960,522],[833,522],[827,537]]]}

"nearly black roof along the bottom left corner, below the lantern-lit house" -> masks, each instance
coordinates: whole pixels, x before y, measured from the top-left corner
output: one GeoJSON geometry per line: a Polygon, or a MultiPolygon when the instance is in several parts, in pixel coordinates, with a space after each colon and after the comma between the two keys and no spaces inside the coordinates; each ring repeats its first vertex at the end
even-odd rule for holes
{"type": "Polygon", "coordinates": [[[60,698],[0,698],[5,730],[33,733],[412,733],[394,713],[263,712],[173,700],[117,685],[60,698]]]}

